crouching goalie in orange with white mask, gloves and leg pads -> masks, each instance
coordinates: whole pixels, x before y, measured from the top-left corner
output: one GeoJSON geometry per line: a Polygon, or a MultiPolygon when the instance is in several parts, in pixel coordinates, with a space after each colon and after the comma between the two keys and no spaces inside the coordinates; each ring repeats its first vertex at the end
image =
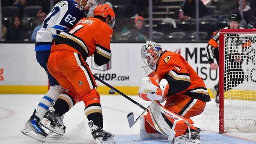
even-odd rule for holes
{"type": "Polygon", "coordinates": [[[151,101],[148,114],[140,117],[140,137],[201,144],[200,129],[193,126],[190,117],[201,114],[210,101],[203,80],[181,55],[162,51],[156,42],[147,41],[141,55],[146,64],[143,68],[152,69],[154,77],[143,78],[138,92],[139,97],[151,101]]]}

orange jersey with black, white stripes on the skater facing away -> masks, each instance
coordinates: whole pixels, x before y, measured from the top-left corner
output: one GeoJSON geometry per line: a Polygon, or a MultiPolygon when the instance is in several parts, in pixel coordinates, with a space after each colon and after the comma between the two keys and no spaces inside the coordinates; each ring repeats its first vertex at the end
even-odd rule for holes
{"type": "Polygon", "coordinates": [[[97,18],[82,18],[69,32],[62,31],[54,39],[51,51],[70,50],[86,61],[94,55],[94,62],[103,65],[110,61],[110,40],[113,35],[107,23],[97,18]]]}

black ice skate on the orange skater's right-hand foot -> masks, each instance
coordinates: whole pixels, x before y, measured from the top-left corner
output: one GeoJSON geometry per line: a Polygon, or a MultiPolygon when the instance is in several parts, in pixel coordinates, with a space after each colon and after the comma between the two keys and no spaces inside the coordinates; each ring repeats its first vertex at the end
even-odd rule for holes
{"type": "Polygon", "coordinates": [[[114,135],[110,132],[106,132],[102,128],[95,126],[93,121],[89,121],[88,125],[91,129],[91,135],[96,140],[97,144],[115,144],[114,135]]]}

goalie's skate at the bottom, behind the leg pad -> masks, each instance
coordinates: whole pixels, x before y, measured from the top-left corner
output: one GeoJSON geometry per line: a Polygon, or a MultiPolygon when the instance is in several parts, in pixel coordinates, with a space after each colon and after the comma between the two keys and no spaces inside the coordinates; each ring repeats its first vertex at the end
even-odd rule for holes
{"type": "Polygon", "coordinates": [[[174,144],[201,144],[200,136],[197,132],[191,132],[191,136],[186,133],[185,135],[177,136],[174,139],[174,144]]]}

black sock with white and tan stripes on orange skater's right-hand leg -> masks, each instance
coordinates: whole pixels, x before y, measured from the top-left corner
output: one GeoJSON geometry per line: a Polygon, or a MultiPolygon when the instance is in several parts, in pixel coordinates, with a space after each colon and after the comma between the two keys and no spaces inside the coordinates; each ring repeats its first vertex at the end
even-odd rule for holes
{"type": "Polygon", "coordinates": [[[91,105],[86,106],[84,113],[88,118],[88,121],[92,120],[94,125],[103,128],[101,104],[92,103],[91,105]]]}

